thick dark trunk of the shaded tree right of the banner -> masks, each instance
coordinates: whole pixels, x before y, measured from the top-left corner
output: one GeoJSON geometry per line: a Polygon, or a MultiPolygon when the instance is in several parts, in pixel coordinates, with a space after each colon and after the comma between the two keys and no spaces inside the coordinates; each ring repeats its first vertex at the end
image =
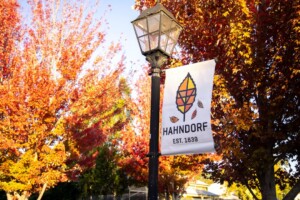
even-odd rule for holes
{"type": "MultiPolygon", "coordinates": [[[[266,162],[268,162],[266,160],[266,162]]],[[[274,165],[272,162],[265,163],[259,172],[262,200],[276,200],[276,188],[274,177],[274,165]]]]}

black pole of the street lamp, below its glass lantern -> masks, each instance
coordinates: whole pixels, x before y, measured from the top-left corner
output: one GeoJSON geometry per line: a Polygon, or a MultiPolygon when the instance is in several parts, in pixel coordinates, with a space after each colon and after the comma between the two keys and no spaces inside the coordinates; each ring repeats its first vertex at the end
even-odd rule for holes
{"type": "Polygon", "coordinates": [[[160,107],[160,72],[167,56],[155,52],[147,56],[151,64],[151,112],[150,112],[150,142],[149,142],[149,180],[148,200],[158,198],[158,144],[159,144],[159,107],[160,107]]]}

